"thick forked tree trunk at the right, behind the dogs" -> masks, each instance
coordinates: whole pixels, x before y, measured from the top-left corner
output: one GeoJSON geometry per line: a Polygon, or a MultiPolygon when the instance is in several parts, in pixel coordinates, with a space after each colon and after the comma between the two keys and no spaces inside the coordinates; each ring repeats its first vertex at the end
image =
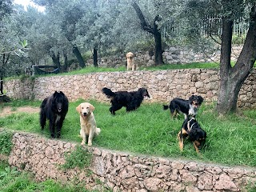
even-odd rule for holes
{"type": "Polygon", "coordinates": [[[250,26],[246,41],[238,61],[232,68],[230,65],[231,39],[233,22],[229,18],[222,19],[222,49],[220,60],[220,89],[217,110],[219,114],[233,113],[237,110],[238,94],[243,82],[250,74],[256,59],[256,6],[250,13],[250,26]]]}

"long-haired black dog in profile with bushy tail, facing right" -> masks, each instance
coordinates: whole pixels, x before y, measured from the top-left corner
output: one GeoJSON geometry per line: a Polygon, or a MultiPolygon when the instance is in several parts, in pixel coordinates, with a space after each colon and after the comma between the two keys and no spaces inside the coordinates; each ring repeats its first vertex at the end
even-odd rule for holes
{"type": "Polygon", "coordinates": [[[144,97],[150,98],[150,94],[145,88],[139,88],[137,91],[118,91],[113,92],[112,90],[104,87],[102,89],[103,94],[106,94],[108,98],[111,98],[111,114],[115,114],[115,111],[120,110],[122,106],[126,107],[126,111],[136,110],[142,103],[144,97]]]}

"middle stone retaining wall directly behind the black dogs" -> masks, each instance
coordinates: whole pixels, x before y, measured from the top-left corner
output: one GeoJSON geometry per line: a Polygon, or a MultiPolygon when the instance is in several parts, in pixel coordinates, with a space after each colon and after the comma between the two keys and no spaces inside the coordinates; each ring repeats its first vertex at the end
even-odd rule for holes
{"type": "MultiPolygon", "coordinates": [[[[243,84],[238,96],[239,107],[256,107],[256,73],[253,70],[243,84]]],[[[165,102],[172,98],[188,99],[191,94],[199,94],[206,102],[218,98],[218,70],[158,70],[124,71],[91,74],[62,75],[33,78],[32,80],[10,80],[4,82],[4,89],[10,98],[35,98],[42,100],[62,90],[70,101],[78,98],[96,99],[109,102],[102,88],[113,91],[138,90],[145,86],[150,94],[144,102],[165,102]]]]}

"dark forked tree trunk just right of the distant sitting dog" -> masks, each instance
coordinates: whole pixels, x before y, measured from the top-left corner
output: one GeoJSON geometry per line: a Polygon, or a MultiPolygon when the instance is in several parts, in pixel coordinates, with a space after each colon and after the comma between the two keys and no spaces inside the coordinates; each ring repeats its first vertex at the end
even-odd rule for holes
{"type": "Polygon", "coordinates": [[[136,11],[138,18],[141,22],[142,30],[145,30],[146,32],[154,35],[154,56],[155,56],[155,65],[162,65],[163,59],[162,59],[162,38],[161,38],[161,32],[158,30],[158,22],[161,21],[161,18],[159,15],[155,16],[154,18],[154,25],[153,27],[150,26],[148,22],[146,22],[146,19],[144,18],[144,15],[142,14],[142,10],[139,8],[138,4],[136,2],[132,3],[132,6],[134,7],[134,10],[136,11]]]}

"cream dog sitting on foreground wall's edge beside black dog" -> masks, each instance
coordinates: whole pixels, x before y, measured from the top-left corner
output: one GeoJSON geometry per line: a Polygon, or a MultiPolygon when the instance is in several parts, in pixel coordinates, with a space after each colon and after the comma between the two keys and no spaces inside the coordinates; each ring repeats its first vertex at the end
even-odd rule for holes
{"type": "Polygon", "coordinates": [[[76,110],[80,114],[80,135],[82,137],[81,145],[85,145],[88,141],[88,146],[92,145],[94,135],[98,135],[101,132],[100,128],[97,128],[94,118],[95,107],[89,102],[82,102],[77,106],[76,110]]]}

